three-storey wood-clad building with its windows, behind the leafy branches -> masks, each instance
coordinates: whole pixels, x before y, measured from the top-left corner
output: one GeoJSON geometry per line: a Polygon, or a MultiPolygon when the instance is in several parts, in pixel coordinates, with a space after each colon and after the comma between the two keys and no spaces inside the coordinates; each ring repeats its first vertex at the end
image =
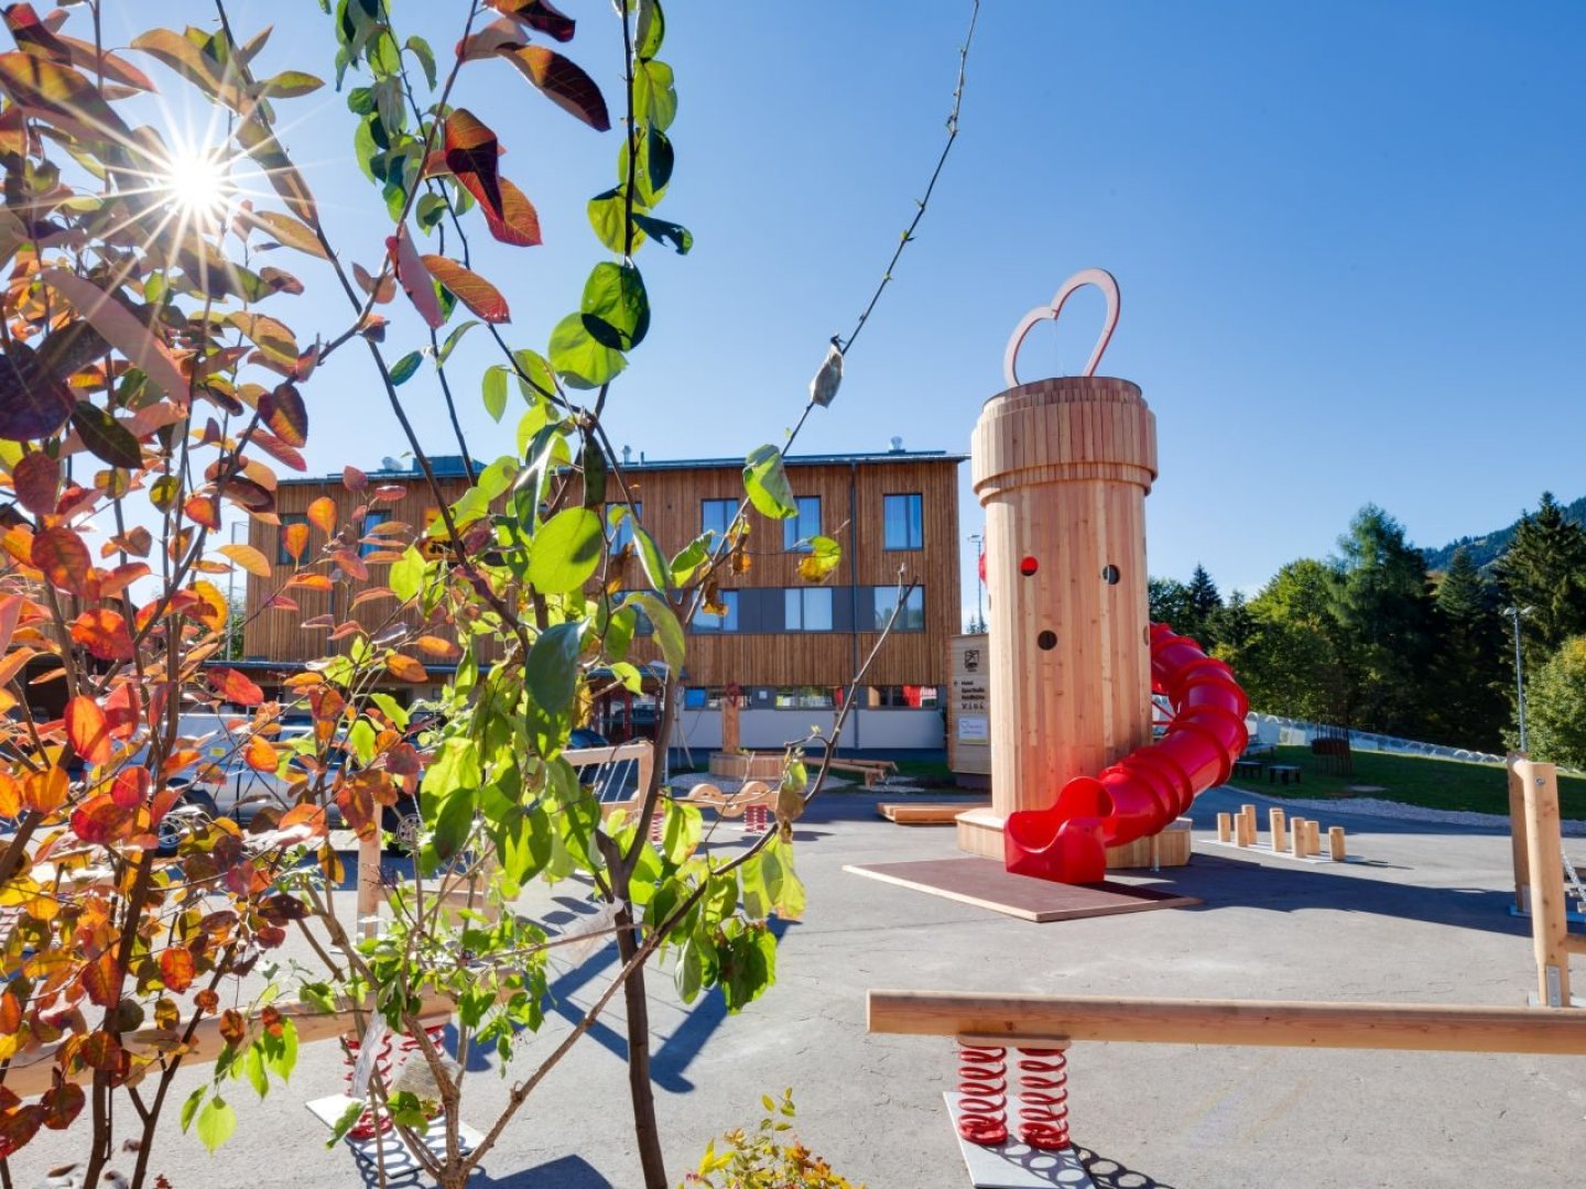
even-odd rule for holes
{"type": "MultiPolygon", "coordinates": [[[[898,602],[899,585],[917,583],[893,634],[877,656],[864,691],[866,707],[931,709],[947,683],[945,640],[960,631],[958,465],[961,455],[895,449],[879,453],[793,457],[788,479],[799,501],[793,520],[750,514],[750,568],[722,582],[725,615],[699,615],[688,629],[684,674],[685,705],[714,709],[734,690],[749,710],[829,707],[839,698],[879,637],[879,628],[898,602]],[[798,575],[798,561],[812,536],[842,545],[842,561],[823,583],[798,575]]],[[[435,460],[447,498],[462,496],[466,477],[460,458],[435,460]]],[[[672,555],[706,531],[722,531],[744,496],[742,461],[736,458],[647,461],[625,465],[638,515],[658,545],[672,555]]],[[[617,485],[611,484],[615,493],[617,485]]],[[[251,577],[243,664],[260,672],[262,683],[344,648],[330,642],[324,621],[351,614],[377,629],[392,602],[349,606],[365,583],[338,583],[333,591],[287,591],[298,610],[268,609],[292,560],[284,552],[285,526],[303,523],[309,506],[330,498],[338,523],[349,523],[366,506],[360,552],[376,552],[381,522],[425,525],[435,515],[435,496],[422,472],[387,466],[368,472],[368,488],[354,495],[341,476],[282,477],[276,493],[281,526],[252,523],[249,542],[278,574],[251,577]],[[381,498],[371,493],[381,490],[381,498]],[[371,533],[374,536],[371,536],[371,533]]],[[[614,530],[615,544],[626,533],[614,530]]],[[[312,530],[306,558],[316,556],[324,534],[312,530]]],[[[639,585],[636,560],[625,563],[625,579],[639,585]]],[[[320,568],[324,571],[324,568],[320,568]]],[[[387,566],[368,566],[370,585],[382,585],[387,566]]],[[[655,655],[639,640],[641,658],[655,655]]],[[[436,680],[444,666],[431,667],[436,680]]],[[[619,731],[617,734],[626,734],[619,731]]]]}

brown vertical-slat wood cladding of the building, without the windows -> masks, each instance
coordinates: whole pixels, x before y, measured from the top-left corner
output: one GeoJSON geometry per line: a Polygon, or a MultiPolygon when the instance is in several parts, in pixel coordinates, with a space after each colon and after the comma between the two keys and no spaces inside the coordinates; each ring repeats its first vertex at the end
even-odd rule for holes
{"type": "MultiPolygon", "coordinates": [[[[788,460],[788,477],[798,496],[820,498],[820,533],[842,545],[842,563],[826,579],[833,591],[834,631],[745,629],[737,633],[691,631],[688,634],[687,685],[691,686],[839,686],[847,683],[877,640],[874,631],[874,587],[893,587],[899,575],[918,580],[925,599],[925,629],[895,631],[871,669],[871,685],[945,685],[944,642],[960,631],[960,531],[958,531],[958,465],[950,455],[855,455],[852,458],[788,460]],[[883,536],[883,498],[918,495],[923,514],[923,542],[915,550],[887,550],[883,536]],[[855,614],[856,612],[856,614],[855,614]],[[861,629],[847,625],[858,621],[861,629]]],[[[633,498],[642,507],[642,523],[660,547],[676,553],[701,531],[701,501],[741,499],[742,468],[736,463],[634,463],[628,471],[633,498]]],[[[442,480],[455,499],[463,491],[462,477],[442,480]]],[[[371,488],[395,484],[406,488],[401,499],[371,504],[390,510],[392,520],[422,526],[435,507],[422,476],[373,474],[371,488]]],[[[609,491],[615,495],[617,485],[609,491]]],[[[366,493],[365,493],[366,495],[366,493]]],[[[338,477],[312,482],[282,482],[278,510],[282,518],[303,514],[308,506],[330,496],[338,517],[346,523],[365,496],[354,496],[338,477]]],[[[801,555],[783,550],[780,522],[750,514],[749,553],[752,566],[739,575],[723,575],[723,590],[766,591],[768,588],[809,587],[798,577],[801,555]]],[[[324,534],[312,531],[308,556],[324,544],[324,534]]],[[[251,544],[274,563],[281,530],[254,523],[251,544]]],[[[636,560],[625,563],[626,585],[641,585],[636,560]]],[[[370,583],[385,582],[387,566],[370,566],[370,583]]],[[[290,563],[273,579],[251,577],[247,612],[251,615],[244,656],[260,661],[306,661],[327,652],[324,629],[305,629],[301,623],[331,610],[336,599],[339,618],[346,617],[346,588],[331,594],[289,591],[300,612],[263,610],[262,604],[290,574],[290,563]],[[255,615],[257,614],[257,615],[255,615]]],[[[362,583],[354,583],[352,593],[362,583]]],[[[744,598],[744,596],[741,596],[744,598]]],[[[777,596],[758,596],[761,607],[776,606],[777,596]]],[[[390,614],[392,601],[379,601],[355,609],[365,626],[377,626],[390,614]]],[[[745,626],[757,626],[755,617],[741,617],[745,626]]],[[[763,623],[758,626],[764,626],[763,623]]],[[[649,659],[657,652],[649,640],[634,647],[636,659],[649,659]]]]}

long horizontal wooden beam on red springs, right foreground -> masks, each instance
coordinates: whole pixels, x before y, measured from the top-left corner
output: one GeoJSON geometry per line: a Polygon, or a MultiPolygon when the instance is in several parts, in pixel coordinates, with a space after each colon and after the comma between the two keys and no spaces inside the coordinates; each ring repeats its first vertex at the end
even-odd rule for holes
{"type": "Polygon", "coordinates": [[[871,991],[869,1030],[1009,1048],[1132,1040],[1586,1056],[1586,1011],[1546,1007],[871,991]]]}

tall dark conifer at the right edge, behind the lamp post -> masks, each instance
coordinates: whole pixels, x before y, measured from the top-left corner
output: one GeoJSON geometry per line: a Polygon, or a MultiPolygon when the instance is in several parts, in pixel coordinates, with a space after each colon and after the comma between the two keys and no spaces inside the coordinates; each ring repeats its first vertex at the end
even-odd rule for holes
{"type": "Polygon", "coordinates": [[[1526,609],[1521,647],[1527,669],[1586,633],[1586,530],[1564,517],[1551,491],[1542,493],[1535,515],[1521,515],[1515,539],[1492,569],[1504,599],[1526,609]]]}

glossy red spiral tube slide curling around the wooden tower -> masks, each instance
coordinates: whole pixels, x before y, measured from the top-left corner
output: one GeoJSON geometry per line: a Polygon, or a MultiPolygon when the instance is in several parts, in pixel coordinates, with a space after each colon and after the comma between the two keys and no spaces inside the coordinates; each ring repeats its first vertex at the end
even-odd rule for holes
{"type": "Polygon", "coordinates": [[[1107,847],[1158,834],[1197,793],[1228,780],[1250,740],[1250,702],[1232,671],[1166,623],[1151,625],[1151,690],[1172,707],[1167,732],[1098,777],[1074,777],[1052,809],[1009,813],[1007,869],[1055,883],[1107,878],[1107,847]]]}

